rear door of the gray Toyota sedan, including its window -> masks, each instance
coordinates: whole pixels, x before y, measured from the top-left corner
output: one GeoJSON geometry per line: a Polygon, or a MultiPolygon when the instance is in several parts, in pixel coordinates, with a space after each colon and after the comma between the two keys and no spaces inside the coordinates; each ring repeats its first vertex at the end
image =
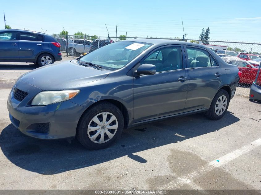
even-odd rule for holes
{"type": "Polygon", "coordinates": [[[185,53],[189,85],[184,112],[208,108],[226,73],[203,48],[186,46],[185,53]]]}

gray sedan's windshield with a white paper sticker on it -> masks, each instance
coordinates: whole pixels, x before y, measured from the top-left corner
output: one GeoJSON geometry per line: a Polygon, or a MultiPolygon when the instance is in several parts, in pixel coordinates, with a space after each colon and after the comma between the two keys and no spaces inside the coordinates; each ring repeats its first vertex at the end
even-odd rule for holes
{"type": "Polygon", "coordinates": [[[152,44],[133,41],[119,41],[94,50],[81,58],[82,62],[92,62],[107,70],[124,67],[152,44]]]}

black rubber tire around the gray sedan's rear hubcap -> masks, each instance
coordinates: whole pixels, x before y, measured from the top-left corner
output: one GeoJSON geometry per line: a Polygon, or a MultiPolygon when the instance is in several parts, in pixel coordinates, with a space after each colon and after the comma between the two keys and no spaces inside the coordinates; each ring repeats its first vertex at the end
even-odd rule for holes
{"type": "Polygon", "coordinates": [[[225,113],[226,113],[226,111],[227,111],[227,109],[228,109],[228,106],[229,106],[229,94],[228,94],[228,92],[227,92],[226,90],[220,89],[220,90],[217,92],[217,94],[215,95],[215,97],[213,98],[213,100],[212,100],[212,102],[211,102],[211,105],[210,105],[208,111],[205,112],[205,115],[206,115],[209,119],[211,119],[211,120],[219,120],[219,119],[221,119],[221,118],[225,115],[225,113]],[[226,98],[227,98],[227,104],[226,104],[226,109],[225,109],[225,111],[223,112],[223,114],[221,114],[220,116],[218,116],[218,115],[216,114],[216,112],[215,112],[215,107],[216,107],[217,100],[218,100],[222,95],[225,95],[225,96],[226,96],[226,98]]]}

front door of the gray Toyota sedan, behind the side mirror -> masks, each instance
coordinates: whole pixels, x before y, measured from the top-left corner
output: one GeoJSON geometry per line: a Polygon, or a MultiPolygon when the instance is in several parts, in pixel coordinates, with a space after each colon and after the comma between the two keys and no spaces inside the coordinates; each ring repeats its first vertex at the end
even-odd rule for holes
{"type": "Polygon", "coordinates": [[[140,64],[156,66],[154,75],[140,75],[133,80],[134,122],[182,113],[186,103],[188,74],[183,46],[158,48],[147,55],[140,64]],[[162,53],[158,63],[155,53],[162,53]],[[150,61],[148,61],[150,60],[150,61]]]}

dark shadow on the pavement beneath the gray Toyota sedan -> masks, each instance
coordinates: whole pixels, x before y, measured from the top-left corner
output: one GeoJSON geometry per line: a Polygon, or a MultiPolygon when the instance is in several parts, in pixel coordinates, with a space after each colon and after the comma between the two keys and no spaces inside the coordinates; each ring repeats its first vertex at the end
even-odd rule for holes
{"type": "Polygon", "coordinates": [[[0,135],[0,147],[16,166],[49,175],[97,165],[122,156],[146,163],[146,159],[134,153],[215,132],[239,120],[231,112],[218,121],[208,120],[202,114],[163,120],[124,129],[114,145],[96,151],[87,150],[77,140],[69,144],[65,140],[27,137],[9,124],[0,135]]]}

